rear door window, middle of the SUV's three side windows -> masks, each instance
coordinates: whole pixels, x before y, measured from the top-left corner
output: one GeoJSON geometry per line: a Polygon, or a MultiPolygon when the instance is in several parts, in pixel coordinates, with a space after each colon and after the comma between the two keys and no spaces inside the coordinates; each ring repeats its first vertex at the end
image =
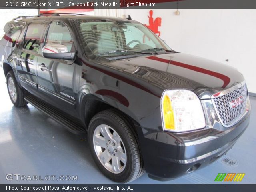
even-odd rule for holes
{"type": "Polygon", "coordinates": [[[44,30],[44,23],[31,23],[26,31],[23,48],[37,52],[40,45],[40,37],[44,30]]]}

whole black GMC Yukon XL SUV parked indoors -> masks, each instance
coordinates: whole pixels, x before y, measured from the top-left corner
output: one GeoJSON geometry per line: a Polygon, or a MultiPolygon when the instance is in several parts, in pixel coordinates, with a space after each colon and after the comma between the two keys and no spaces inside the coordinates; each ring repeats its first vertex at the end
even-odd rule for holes
{"type": "Polygon", "coordinates": [[[14,106],[87,132],[104,175],[171,179],[214,162],[249,124],[236,69],[176,52],[131,18],[20,16],[0,58],[14,106]]]}

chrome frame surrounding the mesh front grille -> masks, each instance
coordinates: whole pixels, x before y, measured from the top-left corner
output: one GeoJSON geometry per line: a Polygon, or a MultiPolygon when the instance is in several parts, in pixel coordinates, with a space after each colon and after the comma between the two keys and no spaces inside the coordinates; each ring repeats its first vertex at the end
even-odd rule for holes
{"type": "MultiPolygon", "coordinates": [[[[224,96],[224,95],[226,95],[226,94],[228,94],[228,93],[230,93],[230,92],[233,92],[233,91],[237,90],[238,88],[244,86],[245,84],[246,84],[246,81],[243,81],[243,82],[241,82],[241,83],[239,83],[239,84],[237,84],[237,85],[235,85],[235,86],[233,86],[233,87],[231,87],[231,88],[228,88],[228,89],[226,89],[226,90],[223,90],[223,91],[218,92],[218,93],[215,93],[215,94],[212,94],[212,96],[211,96],[211,101],[212,101],[212,104],[213,104],[213,106],[214,106],[215,113],[216,113],[216,115],[218,116],[218,119],[219,119],[220,123],[222,124],[222,126],[224,126],[224,127],[226,127],[226,128],[232,127],[232,126],[234,126],[234,124],[236,124],[236,123],[238,123],[240,120],[242,120],[242,118],[244,118],[244,116],[247,114],[248,111],[245,110],[245,111],[244,111],[244,114],[242,114],[242,116],[241,116],[238,120],[234,121],[232,124],[230,124],[230,125],[225,125],[225,124],[223,123],[222,119],[220,118],[220,114],[218,113],[217,106],[216,106],[216,104],[215,104],[215,102],[214,102],[214,98],[218,98],[218,97],[220,97],[220,96],[224,96]],[[216,95],[216,94],[217,94],[217,96],[214,96],[214,95],[216,95]]],[[[245,101],[245,102],[246,102],[246,101],[245,101]]]]}

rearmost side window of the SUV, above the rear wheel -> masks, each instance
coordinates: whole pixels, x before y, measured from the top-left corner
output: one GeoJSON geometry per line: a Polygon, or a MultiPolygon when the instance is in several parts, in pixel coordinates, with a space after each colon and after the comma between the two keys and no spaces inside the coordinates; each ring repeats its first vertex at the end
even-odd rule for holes
{"type": "Polygon", "coordinates": [[[3,36],[1,43],[8,47],[14,47],[18,40],[23,27],[13,27],[3,36]]]}

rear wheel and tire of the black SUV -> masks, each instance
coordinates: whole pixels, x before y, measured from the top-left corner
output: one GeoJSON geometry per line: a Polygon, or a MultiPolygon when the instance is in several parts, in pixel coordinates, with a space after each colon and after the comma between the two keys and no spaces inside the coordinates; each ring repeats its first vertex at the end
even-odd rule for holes
{"type": "Polygon", "coordinates": [[[6,82],[7,82],[8,94],[14,106],[22,107],[27,105],[28,102],[24,100],[24,93],[20,88],[20,86],[18,85],[13,71],[9,71],[7,73],[6,82]]]}

